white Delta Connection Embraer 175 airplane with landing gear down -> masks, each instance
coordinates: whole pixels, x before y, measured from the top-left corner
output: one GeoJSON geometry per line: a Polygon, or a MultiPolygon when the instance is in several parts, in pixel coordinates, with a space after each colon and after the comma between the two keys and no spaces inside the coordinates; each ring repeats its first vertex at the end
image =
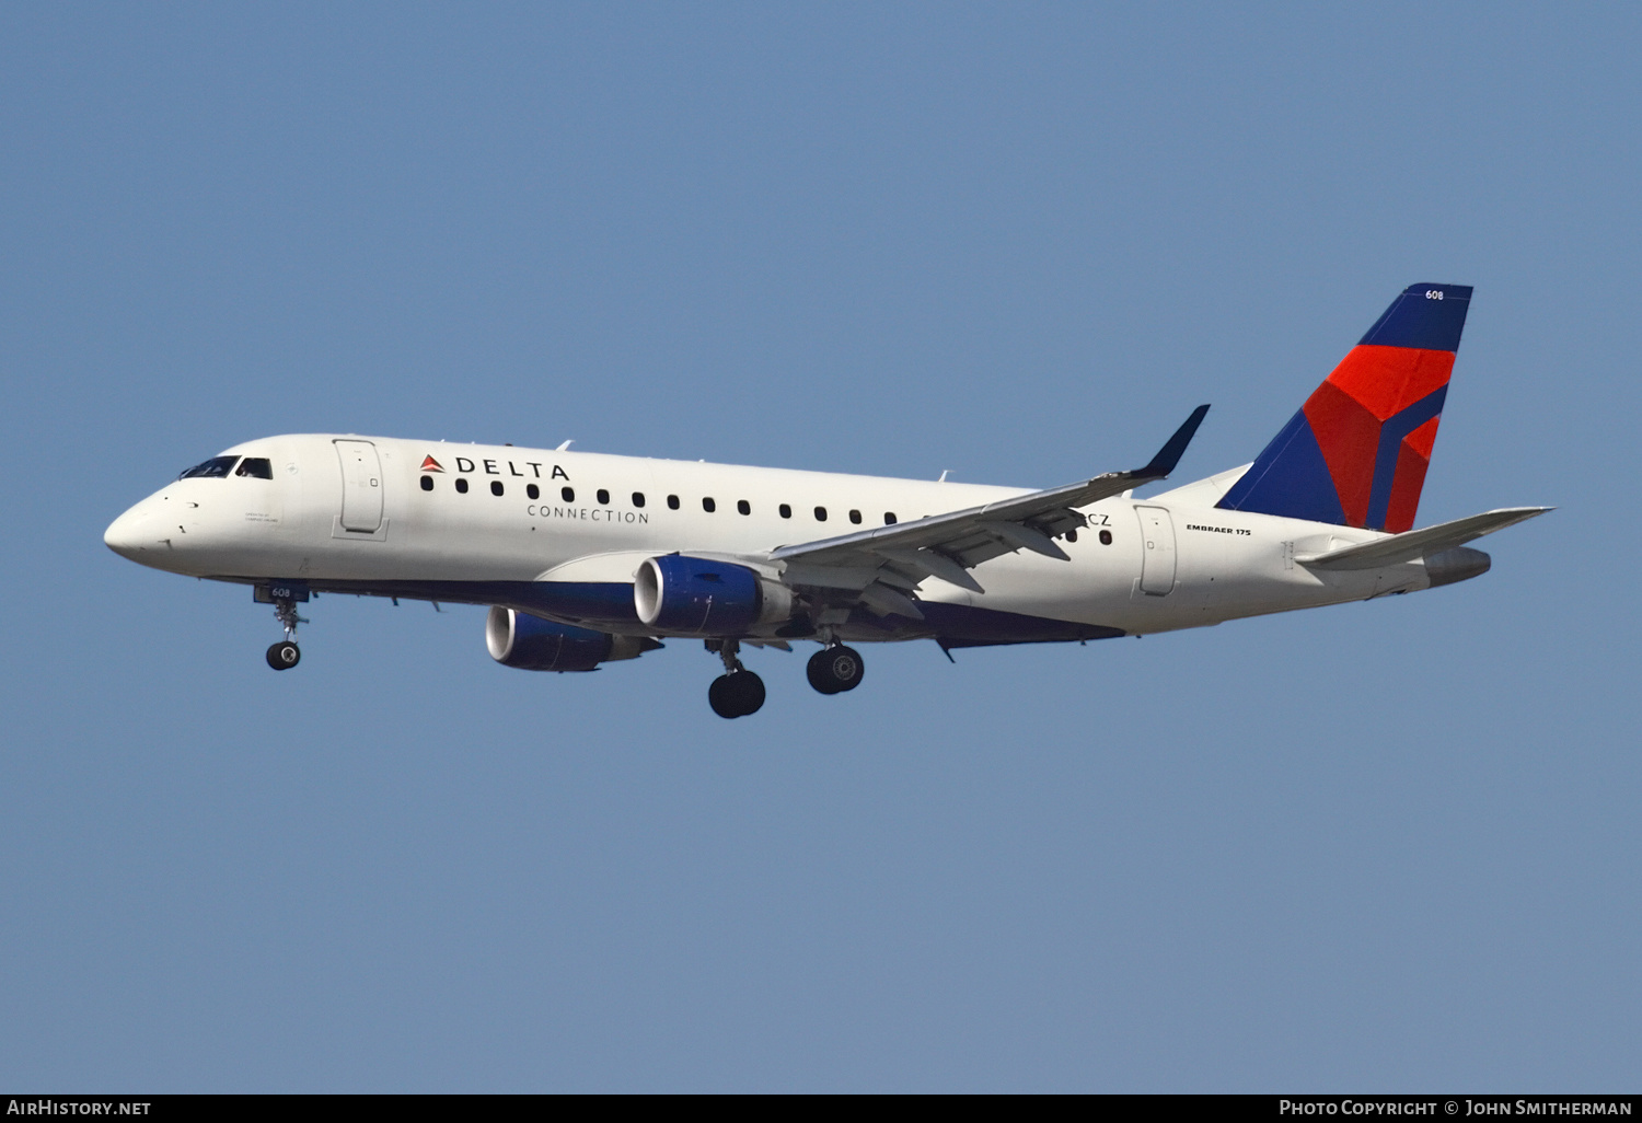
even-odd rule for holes
{"type": "Polygon", "coordinates": [[[819,644],[810,685],[855,690],[849,644],[1087,642],[1414,593],[1486,573],[1466,542],[1552,507],[1414,527],[1471,287],[1415,284],[1248,465],[1151,497],[1209,412],[1144,466],[1026,491],[514,445],[302,433],[235,445],[103,542],[248,584],[297,665],[319,593],[488,606],[504,667],[589,672],[704,640],[721,717],[764,706],[744,647],[819,644]]]}

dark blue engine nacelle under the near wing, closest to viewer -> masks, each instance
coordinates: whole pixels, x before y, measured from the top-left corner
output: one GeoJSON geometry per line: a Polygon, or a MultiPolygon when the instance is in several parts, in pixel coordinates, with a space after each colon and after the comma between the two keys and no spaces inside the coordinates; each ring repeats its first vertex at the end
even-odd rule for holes
{"type": "Polygon", "coordinates": [[[793,591],[745,565],[668,553],[632,581],[639,619],[673,635],[745,635],[793,614],[793,591]]]}

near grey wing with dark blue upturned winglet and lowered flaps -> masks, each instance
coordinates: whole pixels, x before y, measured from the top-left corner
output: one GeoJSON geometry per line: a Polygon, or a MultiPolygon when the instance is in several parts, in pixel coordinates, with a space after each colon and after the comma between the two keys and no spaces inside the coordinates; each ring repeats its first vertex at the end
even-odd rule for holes
{"type": "Polygon", "coordinates": [[[1071,560],[1054,539],[1085,525],[1076,507],[1167,476],[1207,412],[1207,406],[1194,409],[1143,468],[1108,471],[1064,488],[1033,491],[913,522],[787,545],[770,552],[768,560],[783,563],[788,584],[855,589],[860,593],[859,599],[875,611],[923,619],[905,593],[928,576],[982,593],[969,570],[998,555],[1033,550],[1062,562],[1071,560]]]}

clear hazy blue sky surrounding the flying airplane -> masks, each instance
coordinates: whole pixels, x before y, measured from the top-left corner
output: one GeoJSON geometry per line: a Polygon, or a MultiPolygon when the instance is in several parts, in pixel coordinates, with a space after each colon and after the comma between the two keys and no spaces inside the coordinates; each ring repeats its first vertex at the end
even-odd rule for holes
{"type": "Polygon", "coordinates": [[[1642,18],[0,10],[0,1084],[1626,1089],[1642,18]],[[698,645],[117,558],[277,432],[1051,486],[1251,460],[1475,284],[1486,578],[1087,647],[698,645]]]}

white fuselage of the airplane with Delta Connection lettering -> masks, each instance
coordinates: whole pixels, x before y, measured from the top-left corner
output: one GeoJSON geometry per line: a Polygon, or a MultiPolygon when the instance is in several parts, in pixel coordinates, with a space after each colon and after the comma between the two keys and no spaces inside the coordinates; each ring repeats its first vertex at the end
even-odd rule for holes
{"type": "MultiPolygon", "coordinates": [[[[589,617],[509,589],[631,586],[654,555],[760,557],[1026,491],[351,435],[269,437],[225,455],[266,458],[271,478],[174,481],[125,512],[108,545],[190,576],[504,603],[570,622],[589,617]],[[440,470],[424,471],[429,456],[440,470]]],[[[1430,584],[1420,562],[1348,571],[1296,565],[1297,553],[1383,535],[1215,509],[1236,474],[1153,499],[1105,499],[1085,507],[1089,525],[1061,542],[1071,562],[1007,553],[974,570],[984,593],[928,578],[916,596],[1138,635],[1430,584]]],[[[603,626],[654,632],[614,617],[603,626]]],[[[865,640],[926,634],[841,629],[865,640]]],[[[1051,627],[1044,637],[1076,635],[1051,627]]]]}

